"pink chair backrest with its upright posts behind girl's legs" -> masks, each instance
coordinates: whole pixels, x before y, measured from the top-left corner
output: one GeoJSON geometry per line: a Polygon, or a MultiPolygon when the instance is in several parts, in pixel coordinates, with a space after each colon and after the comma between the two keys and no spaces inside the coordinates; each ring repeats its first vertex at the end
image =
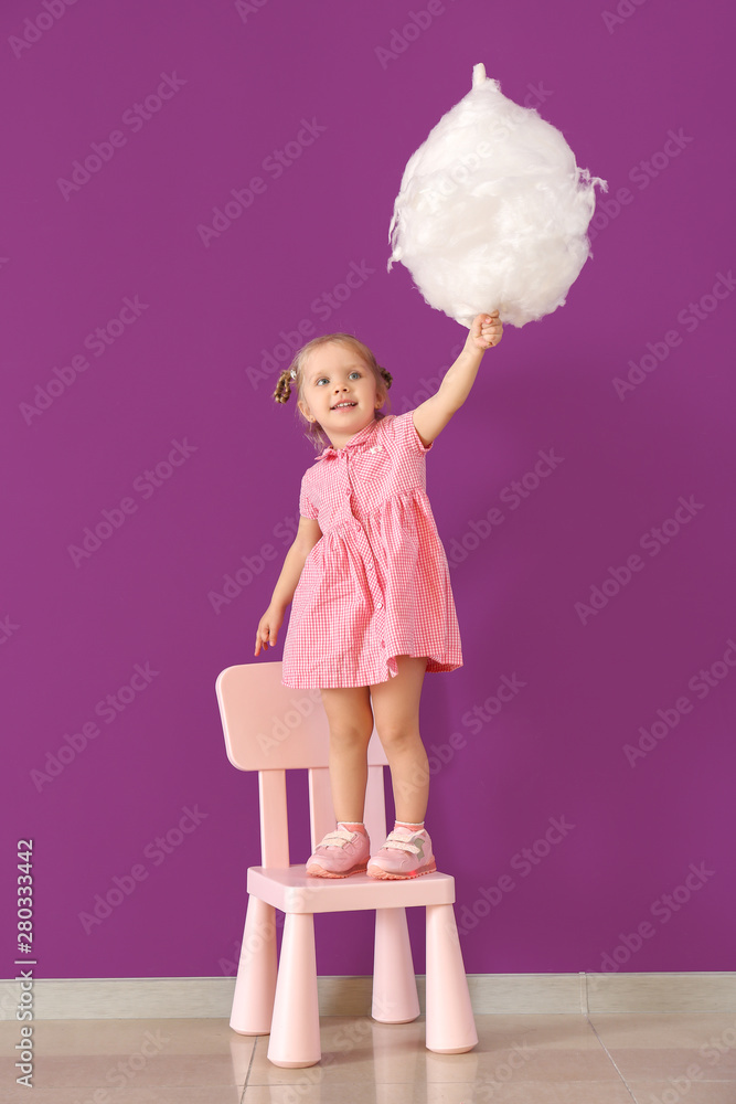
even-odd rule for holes
{"type": "MultiPolygon", "coordinates": [[[[329,776],[330,730],[318,689],[296,690],[281,682],[281,662],[226,667],[215,683],[227,757],[238,771],[258,772],[260,861],[289,866],[286,772],[309,774],[311,848],[334,829],[329,776]]],[[[365,827],[383,841],[386,808],[383,790],[387,760],[373,730],[367,752],[365,827]]],[[[305,856],[306,860],[306,856],[305,856]]]]}

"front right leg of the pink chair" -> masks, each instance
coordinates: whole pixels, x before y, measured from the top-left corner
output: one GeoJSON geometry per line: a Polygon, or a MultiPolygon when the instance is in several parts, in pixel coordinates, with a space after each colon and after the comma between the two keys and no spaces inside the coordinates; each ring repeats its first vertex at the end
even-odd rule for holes
{"type": "Polygon", "coordinates": [[[427,905],[427,1050],[463,1054],[477,1042],[455,910],[427,905]]]}

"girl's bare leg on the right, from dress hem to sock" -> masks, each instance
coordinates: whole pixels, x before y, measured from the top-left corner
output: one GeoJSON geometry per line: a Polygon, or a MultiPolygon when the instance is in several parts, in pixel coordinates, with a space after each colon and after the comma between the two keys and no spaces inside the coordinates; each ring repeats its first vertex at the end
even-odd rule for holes
{"type": "Polygon", "coordinates": [[[429,763],[419,734],[427,659],[397,656],[398,675],[371,687],[373,715],[391,767],[396,819],[420,824],[427,811],[429,763]]]}

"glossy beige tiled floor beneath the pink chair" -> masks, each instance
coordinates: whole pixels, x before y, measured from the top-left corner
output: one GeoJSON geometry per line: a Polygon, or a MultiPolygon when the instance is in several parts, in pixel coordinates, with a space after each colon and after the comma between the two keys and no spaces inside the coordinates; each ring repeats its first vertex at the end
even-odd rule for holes
{"type": "Polygon", "coordinates": [[[33,1090],[0,1023],[0,1101],[34,1104],[736,1104],[736,1011],[477,1016],[467,1054],[425,1018],[322,1017],[322,1061],[284,1070],[225,1019],[38,1020],[33,1090]]]}

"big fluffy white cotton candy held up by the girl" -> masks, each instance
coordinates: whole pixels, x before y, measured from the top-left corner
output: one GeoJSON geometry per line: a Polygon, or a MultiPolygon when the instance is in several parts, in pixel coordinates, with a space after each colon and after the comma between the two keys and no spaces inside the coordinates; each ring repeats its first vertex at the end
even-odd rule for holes
{"type": "Polygon", "coordinates": [[[591,255],[599,177],[556,127],[474,65],[472,89],[409,158],[388,230],[426,301],[470,327],[481,311],[524,326],[563,306],[591,255]]]}

